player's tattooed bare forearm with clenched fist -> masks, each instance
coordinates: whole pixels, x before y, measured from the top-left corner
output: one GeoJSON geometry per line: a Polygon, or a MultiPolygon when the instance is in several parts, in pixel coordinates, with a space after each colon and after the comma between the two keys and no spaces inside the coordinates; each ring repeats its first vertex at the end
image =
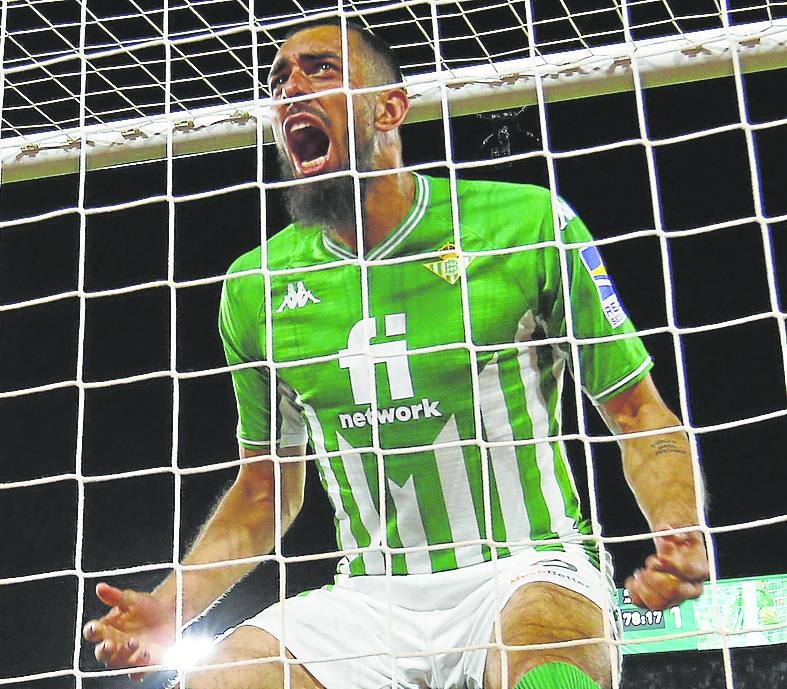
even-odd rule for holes
{"type": "MultiPolygon", "coordinates": [[[[602,405],[615,433],[679,426],[650,376],[602,405]]],[[[620,442],[623,470],[653,531],[699,523],[694,470],[688,438],[665,432],[620,442]]],[[[702,486],[699,486],[700,490],[702,486]]],[[[636,605],[664,609],[702,594],[708,557],[699,531],[660,536],[656,552],[626,580],[636,605]]]]}

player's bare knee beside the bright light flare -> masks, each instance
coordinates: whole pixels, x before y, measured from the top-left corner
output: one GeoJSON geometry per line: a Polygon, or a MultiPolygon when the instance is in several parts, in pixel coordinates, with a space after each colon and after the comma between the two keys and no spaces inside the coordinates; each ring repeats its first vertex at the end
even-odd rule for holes
{"type": "MultiPolygon", "coordinates": [[[[279,642],[257,627],[238,627],[211,656],[212,664],[279,657],[279,642]]],[[[293,656],[288,653],[288,657],[293,656]]],[[[194,671],[187,677],[188,689],[323,689],[301,665],[290,664],[289,685],[284,681],[284,665],[279,660],[215,670],[194,671]]]]}

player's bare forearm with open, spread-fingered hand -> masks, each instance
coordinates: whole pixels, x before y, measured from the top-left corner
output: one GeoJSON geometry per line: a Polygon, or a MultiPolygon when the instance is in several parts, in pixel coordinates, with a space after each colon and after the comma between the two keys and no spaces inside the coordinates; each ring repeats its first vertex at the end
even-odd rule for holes
{"type": "MultiPolygon", "coordinates": [[[[241,448],[242,458],[263,453],[241,448]]],[[[303,447],[279,450],[300,456],[303,447]]],[[[303,504],[303,462],[281,465],[282,532],[303,504]]],[[[274,463],[268,458],[241,465],[238,476],[206,522],[183,564],[236,560],[270,552],[274,546],[276,502],[274,463]]],[[[189,622],[226,593],[252,569],[237,564],[187,571],[183,575],[183,621],[189,622]]],[[[168,577],[152,593],[121,591],[99,583],[96,594],[111,610],[89,621],[84,636],[96,644],[96,659],[108,667],[141,667],[163,661],[175,636],[176,580],[168,577]]]]}

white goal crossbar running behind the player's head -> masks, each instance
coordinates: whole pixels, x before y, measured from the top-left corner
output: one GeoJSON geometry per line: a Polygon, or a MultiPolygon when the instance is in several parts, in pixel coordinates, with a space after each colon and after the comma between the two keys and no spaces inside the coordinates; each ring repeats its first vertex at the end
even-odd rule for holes
{"type": "MultiPolygon", "coordinates": [[[[787,21],[741,24],[729,30],[685,33],[590,50],[430,72],[406,79],[412,107],[407,122],[442,116],[447,90],[450,115],[461,116],[537,103],[540,80],[547,102],[634,90],[634,70],[644,88],[733,75],[733,51],[744,73],[787,67],[787,21]]],[[[88,170],[164,159],[172,137],[175,156],[256,145],[258,119],[271,141],[270,99],[91,125],[0,140],[0,180],[14,182],[79,170],[86,147],[88,170]]]]}

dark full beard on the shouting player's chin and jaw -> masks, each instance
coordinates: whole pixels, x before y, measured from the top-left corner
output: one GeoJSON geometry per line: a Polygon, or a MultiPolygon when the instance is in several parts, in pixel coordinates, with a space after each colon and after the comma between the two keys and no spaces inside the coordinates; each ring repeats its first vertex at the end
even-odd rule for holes
{"type": "MultiPolygon", "coordinates": [[[[356,145],[356,169],[360,172],[372,169],[373,148],[371,139],[356,145]]],[[[276,147],[276,151],[282,179],[296,179],[287,154],[280,146],[276,147]]],[[[370,181],[370,178],[366,177],[359,180],[361,208],[366,200],[370,181]]],[[[304,227],[317,225],[324,230],[355,227],[355,184],[352,175],[293,185],[285,187],[283,191],[284,204],[294,223],[304,227]]]]}

